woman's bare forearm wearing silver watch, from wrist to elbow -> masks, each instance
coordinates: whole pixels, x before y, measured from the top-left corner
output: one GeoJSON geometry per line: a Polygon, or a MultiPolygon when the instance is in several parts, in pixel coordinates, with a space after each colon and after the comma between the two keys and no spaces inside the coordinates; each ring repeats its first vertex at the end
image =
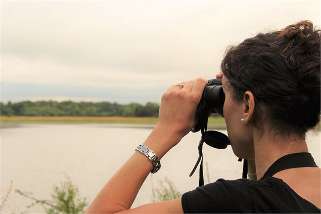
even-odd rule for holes
{"type": "MultiPolygon", "coordinates": [[[[144,145],[160,159],[174,145],[172,142],[179,140],[175,134],[156,125],[144,145]]],[[[96,196],[87,213],[115,213],[129,209],[152,169],[153,165],[145,155],[134,152],[96,196]]]]}

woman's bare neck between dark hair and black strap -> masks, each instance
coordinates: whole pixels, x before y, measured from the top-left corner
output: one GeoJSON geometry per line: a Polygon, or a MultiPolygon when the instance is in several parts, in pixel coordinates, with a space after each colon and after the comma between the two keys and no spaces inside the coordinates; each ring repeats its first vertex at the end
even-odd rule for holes
{"type": "Polygon", "coordinates": [[[279,158],[287,154],[308,152],[308,148],[305,139],[299,135],[281,135],[266,130],[262,135],[259,132],[254,134],[254,152],[257,179],[260,179],[279,158]]]}

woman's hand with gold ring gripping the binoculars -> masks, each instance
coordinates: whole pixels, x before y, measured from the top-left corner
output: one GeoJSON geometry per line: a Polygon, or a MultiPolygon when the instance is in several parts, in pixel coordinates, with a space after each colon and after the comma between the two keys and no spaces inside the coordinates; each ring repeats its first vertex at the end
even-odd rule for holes
{"type": "Polygon", "coordinates": [[[197,78],[181,82],[183,88],[172,85],[162,96],[157,126],[179,140],[187,135],[196,123],[196,109],[207,83],[208,80],[197,78]]]}

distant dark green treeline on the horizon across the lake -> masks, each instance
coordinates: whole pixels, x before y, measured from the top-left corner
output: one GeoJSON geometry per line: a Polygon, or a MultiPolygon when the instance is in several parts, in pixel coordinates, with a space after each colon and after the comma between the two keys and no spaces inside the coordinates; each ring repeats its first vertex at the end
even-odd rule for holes
{"type": "Polygon", "coordinates": [[[148,102],[146,105],[130,103],[121,105],[110,102],[57,102],[23,101],[0,102],[0,114],[3,116],[124,116],[158,117],[159,104],[148,102]]]}

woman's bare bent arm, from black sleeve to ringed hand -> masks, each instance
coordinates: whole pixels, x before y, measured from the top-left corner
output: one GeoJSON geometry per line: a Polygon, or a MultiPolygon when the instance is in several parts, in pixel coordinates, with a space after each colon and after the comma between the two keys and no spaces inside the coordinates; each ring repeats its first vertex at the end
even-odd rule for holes
{"type": "MultiPolygon", "coordinates": [[[[196,108],[207,80],[198,78],[181,84],[184,85],[183,88],[172,85],[164,93],[158,123],[144,142],[144,145],[152,149],[159,159],[194,126],[196,108]]],[[[138,144],[140,142],[137,142],[138,144]]],[[[86,213],[181,213],[180,198],[130,209],[152,169],[153,165],[145,155],[134,152],[99,192],[86,213]]]]}

